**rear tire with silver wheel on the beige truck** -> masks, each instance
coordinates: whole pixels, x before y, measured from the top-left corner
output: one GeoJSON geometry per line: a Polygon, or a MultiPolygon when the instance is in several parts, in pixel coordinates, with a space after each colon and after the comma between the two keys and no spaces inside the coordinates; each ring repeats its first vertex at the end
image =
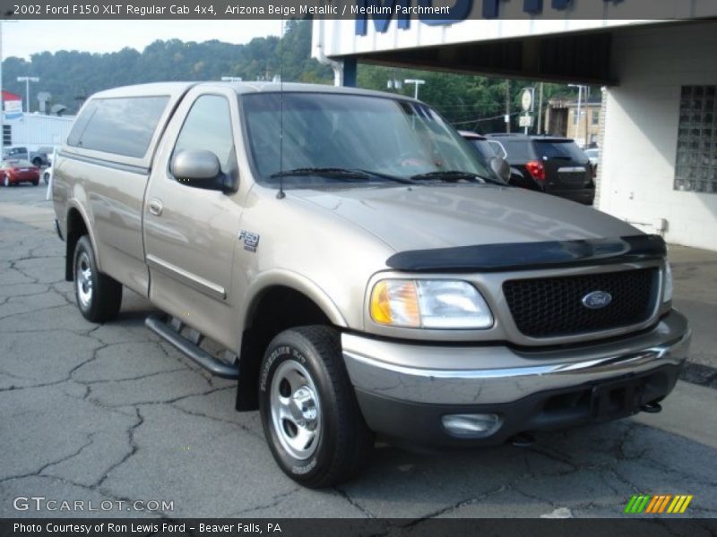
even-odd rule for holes
{"type": "Polygon", "coordinates": [[[97,269],[95,252],[88,235],[82,235],[74,248],[74,296],[82,317],[104,322],[117,317],[122,305],[122,284],[97,269]]]}

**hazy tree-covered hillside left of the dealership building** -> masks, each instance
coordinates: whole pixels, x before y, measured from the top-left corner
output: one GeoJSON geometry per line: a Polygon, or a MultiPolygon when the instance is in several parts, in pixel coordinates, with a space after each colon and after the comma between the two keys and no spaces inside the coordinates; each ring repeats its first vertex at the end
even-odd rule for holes
{"type": "Polygon", "coordinates": [[[284,81],[333,81],[331,69],[311,58],[311,21],[289,21],[283,39],[255,38],[245,45],[171,39],[155,41],[143,52],[132,48],[109,54],[61,50],[31,55],[30,62],[16,57],[3,62],[4,90],[24,98],[25,85],[17,77],[39,76],[40,82],[31,89],[31,110],[37,110],[38,92],[48,91],[52,95],[51,104],[65,105],[67,114],[77,111],[82,98],[117,86],[156,81],[218,81],[222,76],[271,81],[278,74],[284,81]]]}

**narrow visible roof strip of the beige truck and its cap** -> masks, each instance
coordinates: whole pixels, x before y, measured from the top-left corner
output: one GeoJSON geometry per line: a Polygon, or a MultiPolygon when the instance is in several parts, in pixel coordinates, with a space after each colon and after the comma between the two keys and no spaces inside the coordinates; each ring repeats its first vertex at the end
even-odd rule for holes
{"type": "Polygon", "coordinates": [[[344,93],[352,95],[368,95],[376,97],[391,97],[413,100],[412,98],[393,93],[385,93],[384,91],[360,90],[358,88],[346,88],[341,86],[327,86],[324,84],[299,84],[296,82],[153,82],[150,84],[137,84],[134,86],[123,86],[121,88],[113,88],[112,90],[99,91],[92,95],[92,98],[117,98],[117,97],[147,97],[151,95],[169,95],[170,97],[180,97],[187,90],[194,86],[221,86],[229,87],[235,90],[239,95],[249,93],[276,93],[280,91],[286,92],[321,92],[321,93],[344,93]]]}

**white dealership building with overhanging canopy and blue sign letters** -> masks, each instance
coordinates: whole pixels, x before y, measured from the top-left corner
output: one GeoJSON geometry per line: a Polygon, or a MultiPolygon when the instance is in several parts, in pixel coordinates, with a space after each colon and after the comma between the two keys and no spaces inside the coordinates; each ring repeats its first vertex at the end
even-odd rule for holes
{"type": "Polygon", "coordinates": [[[366,62],[604,87],[595,207],[669,243],[717,251],[717,2],[451,4],[451,21],[315,19],[313,55],[343,85],[366,62]]]}

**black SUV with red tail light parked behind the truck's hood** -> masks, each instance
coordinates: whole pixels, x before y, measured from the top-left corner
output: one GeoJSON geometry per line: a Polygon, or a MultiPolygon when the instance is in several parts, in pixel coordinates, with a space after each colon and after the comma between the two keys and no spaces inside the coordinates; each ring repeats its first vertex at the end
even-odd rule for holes
{"type": "Polygon", "coordinates": [[[487,138],[500,142],[508,163],[520,170],[522,180],[514,178],[515,186],[592,205],[592,166],[574,141],[524,134],[488,134],[487,138]]]}

